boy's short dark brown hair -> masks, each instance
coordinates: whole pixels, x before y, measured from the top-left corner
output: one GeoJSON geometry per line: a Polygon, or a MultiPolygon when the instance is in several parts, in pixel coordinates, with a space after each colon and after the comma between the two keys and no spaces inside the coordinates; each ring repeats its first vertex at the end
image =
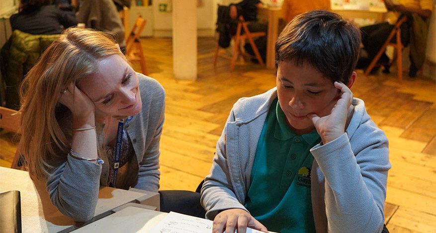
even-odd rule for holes
{"type": "Polygon", "coordinates": [[[304,61],[333,82],[348,84],[359,57],[360,31],[341,15],[313,10],[297,15],[275,43],[276,67],[280,61],[304,61]]]}

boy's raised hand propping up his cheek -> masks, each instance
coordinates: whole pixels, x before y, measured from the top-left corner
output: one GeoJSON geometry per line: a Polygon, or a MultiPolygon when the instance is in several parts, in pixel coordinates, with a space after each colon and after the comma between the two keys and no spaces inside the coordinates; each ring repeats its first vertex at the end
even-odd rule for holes
{"type": "Polygon", "coordinates": [[[347,85],[339,82],[335,82],[334,85],[341,90],[341,98],[336,102],[330,115],[325,117],[319,117],[316,114],[307,115],[312,119],[324,144],[335,140],[345,132],[348,109],[353,98],[353,94],[347,85]]]}

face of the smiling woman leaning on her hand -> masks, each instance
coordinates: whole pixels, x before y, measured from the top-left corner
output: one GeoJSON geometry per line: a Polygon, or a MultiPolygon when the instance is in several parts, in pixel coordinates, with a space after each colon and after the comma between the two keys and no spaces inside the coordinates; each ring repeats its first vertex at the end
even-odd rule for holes
{"type": "Polygon", "coordinates": [[[138,77],[119,55],[98,61],[97,72],[78,87],[94,103],[96,118],[134,116],[141,111],[138,77]]]}

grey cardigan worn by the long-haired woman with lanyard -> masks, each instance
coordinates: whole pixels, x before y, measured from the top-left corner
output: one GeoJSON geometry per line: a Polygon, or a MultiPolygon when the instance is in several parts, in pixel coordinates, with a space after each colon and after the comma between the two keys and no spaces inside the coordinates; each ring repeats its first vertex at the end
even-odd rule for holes
{"type": "MultiPolygon", "coordinates": [[[[140,73],[137,75],[142,110],[125,126],[138,162],[138,170],[130,172],[135,173],[132,174],[136,177],[135,188],[157,192],[165,91],[155,79],[140,73]]],[[[52,164],[54,168],[46,180],[51,202],[74,221],[86,222],[94,215],[99,185],[107,185],[108,163],[100,166],[68,155],[60,158],[62,161],[52,164]]]]}

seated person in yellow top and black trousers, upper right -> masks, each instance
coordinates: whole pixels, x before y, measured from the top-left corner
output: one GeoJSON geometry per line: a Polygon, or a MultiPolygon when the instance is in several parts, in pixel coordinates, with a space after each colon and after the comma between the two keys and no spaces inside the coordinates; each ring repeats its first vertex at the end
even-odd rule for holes
{"type": "MultiPolygon", "coordinates": [[[[385,0],[385,6],[389,11],[394,13],[394,17],[389,17],[389,22],[360,28],[362,31],[363,49],[368,54],[368,57],[359,58],[358,63],[360,63],[360,65],[358,66],[364,67],[365,65],[369,64],[369,62],[375,57],[380,48],[383,46],[390,32],[394,28],[394,24],[399,15],[406,14],[408,16],[408,21],[403,23],[401,26],[401,42],[406,46],[411,43],[411,55],[409,56],[411,65],[409,68],[409,76],[415,77],[418,69],[422,67],[424,61],[424,59],[417,58],[417,56],[424,56],[425,50],[422,51],[422,48],[425,48],[426,40],[417,39],[418,35],[413,29],[421,27],[422,30],[420,31],[427,32],[428,23],[426,21],[432,15],[433,0],[398,0],[398,2],[385,0]],[[420,43],[420,45],[416,45],[417,43],[420,43]],[[421,51],[414,52],[416,49],[421,51]]],[[[424,37],[426,37],[426,35],[424,35],[424,37]]],[[[389,72],[388,63],[389,58],[386,56],[386,54],[383,54],[377,62],[378,66],[385,65],[386,72],[389,72]]]]}

